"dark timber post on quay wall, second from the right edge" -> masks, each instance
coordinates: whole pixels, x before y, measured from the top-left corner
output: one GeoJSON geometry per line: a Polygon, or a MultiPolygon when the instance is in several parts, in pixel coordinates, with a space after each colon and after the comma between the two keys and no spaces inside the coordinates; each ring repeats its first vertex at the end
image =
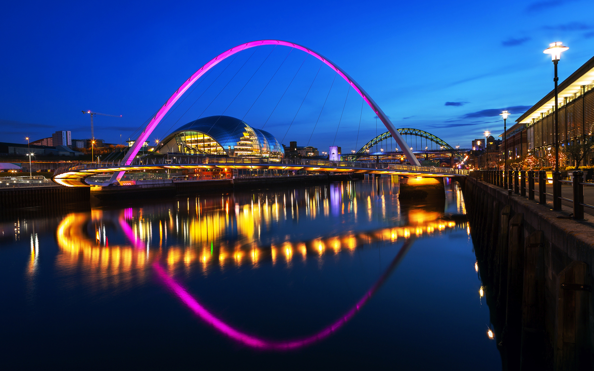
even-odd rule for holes
{"type": "Polygon", "coordinates": [[[526,239],[520,370],[545,369],[544,242],[541,230],[531,233],[526,239]]]}

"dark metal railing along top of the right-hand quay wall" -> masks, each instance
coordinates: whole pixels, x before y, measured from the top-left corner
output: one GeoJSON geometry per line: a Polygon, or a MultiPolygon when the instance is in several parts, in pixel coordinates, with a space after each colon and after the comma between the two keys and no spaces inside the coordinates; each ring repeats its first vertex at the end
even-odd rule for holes
{"type": "Polygon", "coordinates": [[[527,199],[535,200],[535,194],[538,192],[538,203],[545,205],[546,197],[551,197],[553,201],[553,210],[561,210],[561,200],[571,202],[573,204],[573,219],[584,219],[584,207],[594,210],[594,205],[586,204],[584,202],[584,186],[594,186],[594,183],[584,182],[582,171],[573,172],[572,180],[562,180],[561,173],[552,173],[552,177],[547,177],[544,170],[538,172],[534,170],[478,170],[473,173],[476,179],[482,180],[492,185],[507,189],[508,192],[520,194],[523,197],[528,192],[527,199]],[[475,175],[476,174],[476,175],[475,175]],[[526,180],[528,185],[526,186],[526,180]],[[546,192],[546,185],[551,181],[552,193],[546,192]],[[561,195],[561,185],[569,184],[573,189],[573,199],[563,197],[561,195]],[[538,189],[535,185],[538,184],[538,189]]]}

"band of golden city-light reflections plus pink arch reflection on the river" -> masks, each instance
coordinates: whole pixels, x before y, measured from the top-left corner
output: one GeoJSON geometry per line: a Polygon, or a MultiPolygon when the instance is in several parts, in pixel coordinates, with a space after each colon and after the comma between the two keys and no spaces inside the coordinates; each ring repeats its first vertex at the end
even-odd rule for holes
{"type": "MultiPolygon", "coordinates": [[[[127,290],[156,274],[192,312],[233,340],[268,350],[298,348],[326,338],[352,318],[402,261],[414,239],[467,230],[465,220],[444,215],[443,204],[401,208],[396,194],[396,185],[388,179],[71,213],[56,229],[56,267],[62,275],[77,272],[90,291],[127,290]],[[318,259],[321,267],[327,255],[352,255],[378,243],[400,246],[378,281],[345,315],[297,340],[271,341],[238,331],[208,312],[174,278],[180,272],[207,276],[213,269],[244,265],[290,268],[308,258],[318,259]]],[[[465,210],[461,197],[448,200],[445,208],[450,211],[465,210]]],[[[31,238],[34,261],[39,248],[33,249],[31,238]]]]}

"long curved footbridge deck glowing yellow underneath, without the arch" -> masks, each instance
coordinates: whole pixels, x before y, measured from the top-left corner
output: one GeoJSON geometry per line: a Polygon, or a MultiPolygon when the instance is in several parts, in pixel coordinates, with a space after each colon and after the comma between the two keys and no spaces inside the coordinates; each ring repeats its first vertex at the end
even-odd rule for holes
{"type": "Polygon", "coordinates": [[[112,172],[144,172],[163,169],[270,169],[390,174],[424,177],[467,176],[468,170],[387,163],[364,163],[326,160],[280,160],[237,157],[137,158],[131,164],[119,162],[73,163],[56,170],[53,181],[65,186],[89,186],[86,177],[112,172]]]}

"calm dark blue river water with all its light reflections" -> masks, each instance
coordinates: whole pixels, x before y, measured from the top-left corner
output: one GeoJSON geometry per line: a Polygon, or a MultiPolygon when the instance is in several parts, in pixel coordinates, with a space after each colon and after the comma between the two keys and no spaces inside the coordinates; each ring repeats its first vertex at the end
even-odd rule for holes
{"type": "Polygon", "coordinates": [[[4,216],[1,362],[501,369],[462,193],[396,194],[381,178],[4,216]]]}

